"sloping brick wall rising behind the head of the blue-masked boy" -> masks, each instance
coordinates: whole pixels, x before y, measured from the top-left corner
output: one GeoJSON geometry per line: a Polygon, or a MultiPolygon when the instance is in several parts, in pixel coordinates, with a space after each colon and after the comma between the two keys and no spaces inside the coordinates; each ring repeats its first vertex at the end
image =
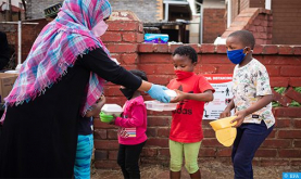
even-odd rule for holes
{"type": "Polygon", "coordinates": [[[253,33],[256,44],[271,44],[273,38],[272,27],[273,15],[271,11],[262,8],[248,8],[235,17],[230,27],[226,29],[222,37],[227,38],[228,35],[236,30],[246,29],[253,33]]]}

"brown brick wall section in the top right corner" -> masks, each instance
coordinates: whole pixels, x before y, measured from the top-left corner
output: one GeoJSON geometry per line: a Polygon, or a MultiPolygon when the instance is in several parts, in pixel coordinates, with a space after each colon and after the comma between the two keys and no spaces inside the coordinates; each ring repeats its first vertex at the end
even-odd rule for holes
{"type": "Polygon", "coordinates": [[[273,43],[301,44],[301,1],[273,0],[273,43]]]}

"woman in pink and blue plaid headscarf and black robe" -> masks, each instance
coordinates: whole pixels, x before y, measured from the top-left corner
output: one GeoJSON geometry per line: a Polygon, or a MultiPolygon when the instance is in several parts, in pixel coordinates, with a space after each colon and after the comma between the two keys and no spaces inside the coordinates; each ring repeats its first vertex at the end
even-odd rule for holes
{"type": "Polygon", "coordinates": [[[110,14],[108,0],[65,0],[42,29],[5,99],[0,178],[72,178],[77,123],[101,97],[104,80],[170,101],[165,87],[110,59],[93,34],[110,14]]]}

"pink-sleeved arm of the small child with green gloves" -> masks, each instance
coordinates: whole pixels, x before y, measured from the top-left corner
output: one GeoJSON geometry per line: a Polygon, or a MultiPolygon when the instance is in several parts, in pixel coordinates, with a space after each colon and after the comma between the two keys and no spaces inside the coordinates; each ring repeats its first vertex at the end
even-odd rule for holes
{"type": "Polygon", "coordinates": [[[116,117],[114,124],[120,127],[138,127],[143,124],[145,106],[133,106],[131,118],[116,117]]]}

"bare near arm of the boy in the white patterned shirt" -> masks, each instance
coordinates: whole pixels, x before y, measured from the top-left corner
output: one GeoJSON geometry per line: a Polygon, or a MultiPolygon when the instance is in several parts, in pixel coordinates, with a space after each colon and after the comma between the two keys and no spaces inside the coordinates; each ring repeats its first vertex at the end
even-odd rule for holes
{"type": "Polygon", "coordinates": [[[237,120],[237,124],[234,127],[239,127],[242,124],[246,116],[263,108],[264,106],[269,104],[272,101],[273,101],[273,94],[263,95],[256,103],[254,103],[250,107],[248,107],[246,110],[241,110],[239,112],[236,112],[235,115],[237,117],[231,122],[231,123],[234,123],[237,120]]]}

